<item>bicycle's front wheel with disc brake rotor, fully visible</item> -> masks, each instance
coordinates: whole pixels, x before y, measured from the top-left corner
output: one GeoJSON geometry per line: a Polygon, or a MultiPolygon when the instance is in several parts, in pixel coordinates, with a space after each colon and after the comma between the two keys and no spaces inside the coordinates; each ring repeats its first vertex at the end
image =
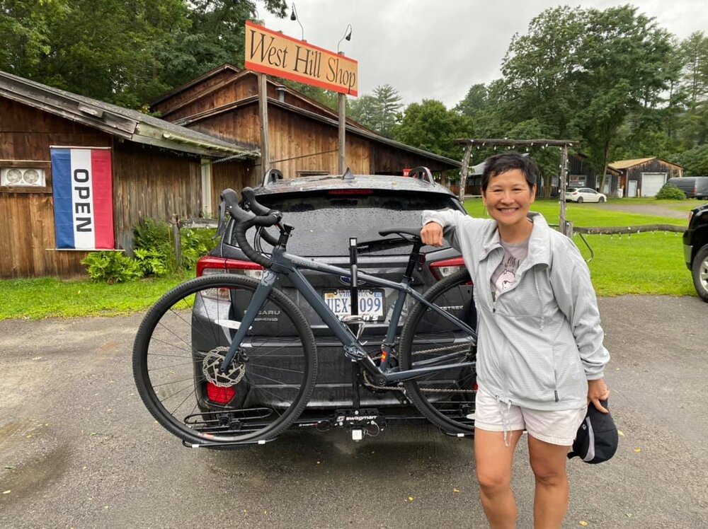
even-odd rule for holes
{"type": "Polygon", "coordinates": [[[186,443],[268,441],[297,419],[312,395],[314,335],[302,311],[277,289],[251,325],[246,356],[234,359],[231,378],[215,376],[219,354],[223,359],[257,287],[255,279],[236,274],[190,279],[142,320],[132,356],[138,393],[157,422],[186,443]]]}

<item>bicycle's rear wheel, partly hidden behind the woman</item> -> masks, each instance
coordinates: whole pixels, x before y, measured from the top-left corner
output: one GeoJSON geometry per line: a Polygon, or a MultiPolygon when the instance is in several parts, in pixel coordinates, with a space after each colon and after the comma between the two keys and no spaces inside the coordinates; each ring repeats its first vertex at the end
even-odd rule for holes
{"type": "MultiPolygon", "coordinates": [[[[438,281],[423,296],[426,301],[445,308],[474,329],[476,310],[473,288],[469,272],[463,269],[438,281]]],[[[474,339],[469,332],[455,327],[423,303],[416,303],[401,330],[399,360],[402,370],[416,368],[417,361],[434,361],[435,356],[452,352],[459,352],[458,362],[475,361],[474,339]],[[435,352],[432,352],[433,349],[435,352]]],[[[406,396],[418,411],[446,433],[474,432],[474,367],[450,369],[408,380],[404,388],[406,396]]]]}

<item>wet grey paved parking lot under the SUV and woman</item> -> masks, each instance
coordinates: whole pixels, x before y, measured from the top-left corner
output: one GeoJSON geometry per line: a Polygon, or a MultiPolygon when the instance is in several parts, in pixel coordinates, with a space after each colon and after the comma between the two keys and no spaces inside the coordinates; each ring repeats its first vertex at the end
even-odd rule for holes
{"type": "MultiPolygon", "coordinates": [[[[708,305],[600,300],[607,380],[624,436],[603,465],[572,460],[565,526],[708,524],[708,305]]],[[[190,450],[155,424],[132,383],[139,317],[0,322],[4,528],[484,527],[473,441],[396,426],[350,441],[306,430],[266,446],[190,450]]],[[[519,527],[533,479],[518,452],[519,527]]]]}

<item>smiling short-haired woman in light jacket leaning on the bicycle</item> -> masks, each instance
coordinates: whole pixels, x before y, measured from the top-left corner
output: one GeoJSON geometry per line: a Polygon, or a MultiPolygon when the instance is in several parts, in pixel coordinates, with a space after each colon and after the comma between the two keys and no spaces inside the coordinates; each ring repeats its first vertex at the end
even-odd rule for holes
{"type": "Polygon", "coordinates": [[[513,528],[515,447],[528,433],[535,475],[534,523],[560,527],[568,507],[566,454],[588,403],[607,413],[598,303],[573,242],[529,209],[538,168],[509,152],[486,161],[482,202],[491,216],[424,211],[423,242],[445,236],[462,252],[478,313],[474,455],[492,528],[513,528]]]}

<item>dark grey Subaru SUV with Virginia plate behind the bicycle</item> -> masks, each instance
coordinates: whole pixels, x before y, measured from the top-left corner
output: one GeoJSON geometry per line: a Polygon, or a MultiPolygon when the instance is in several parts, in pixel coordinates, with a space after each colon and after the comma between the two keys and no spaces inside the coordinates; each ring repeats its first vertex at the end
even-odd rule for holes
{"type": "MultiPolygon", "coordinates": [[[[356,238],[358,243],[381,240],[379,230],[392,226],[420,226],[424,209],[452,208],[464,212],[459,199],[447,188],[435,183],[429,170],[416,168],[411,174],[412,177],[401,177],[352,175],[347,172],[345,176],[284,179],[279,171],[270,170],[263,185],[256,187],[254,192],[259,204],[280,211],[283,221],[294,226],[287,246],[290,254],[348,268],[350,238],[356,238]]],[[[255,233],[255,228],[246,233],[252,245],[255,233]]],[[[384,249],[360,253],[358,269],[384,279],[400,281],[411,247],[385,246],[384,249]]],[[[430,251],[424,259],[421,258],[411,281],[411,286],[420,292],[464,267],[459,252],[447,243],[442,248],[423,248],[423,252],[426,250],[430,251]]],[[[233,220],[229,220],[221,243],[209,255],[202,257],[197,265],[198,276],[224,272],[254,278],[263,274],[262,267],[248,260],[239,249],[234,238],[233,220]]],[[[349,277],[312,270],[302,272],[336,314],[348,314],[349,277]]],[[[355,364],[342,354],[341,343],[307,302],[299,298],[299,293],[292,284],[288,284],[287,278],[283,279],[280,288],[303,311],[316,339],[317,383],[307,409],[298,421],[301,425],[306,422],[316,424],[316,417],[332,417],[337,410],[352,407],[375,407],[388,422],[418,417],[400,391],[375,388],[372,383],[367,383],[369,381],[365,376],[353,373],[355,364]]],[[[472,303],[472,285],[469,285],[465,297],[468,304],[472,303]]],[[[396,291],[392,289],[369,290],[366,284],[360,283],[360,314],[367,314],[373,320],[363,330],[362,341],[372,347],[380,346],[395,298],[396,291]]],[[[406,301],[409,306],[404,308],[401,316],[401,326],[414,302],[410,297],[409,300],[406,301]]],[[[210,344],[195,347],[195,350],[209,349],[210,344]]],[[[233,407],[234,395],[224,392],[223,388],[210,387],[211,384],[203,377],[195,376],[202,411],[233,407]]]]}

